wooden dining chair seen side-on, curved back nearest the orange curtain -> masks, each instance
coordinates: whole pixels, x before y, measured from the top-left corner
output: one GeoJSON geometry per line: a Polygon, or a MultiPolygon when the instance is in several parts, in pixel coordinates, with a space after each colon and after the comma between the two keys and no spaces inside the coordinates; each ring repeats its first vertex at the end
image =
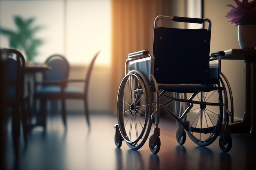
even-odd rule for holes
{"type": "Polygon", "coordinates": [[[85,75],[85,79],[69,79],[66,80],[64,84],[67,84],[64,91],[64,98],[65,99],[81,99],[83,100],[84,104],[84,111],[85,111],[85,118],[90,128],[90,119],[89,119],[89,109],[88,109],[88,93],[89,93],[89,85],[90,85],[90,77],[92,75],[92,68],[94,66],[94,62],[99,55],[100,51],[98,51],[89,64],[87,73],[85,75]],[[75,86],[70,86],[73,83],[83,83],[84,88],[79,88],[75,86]]]}

